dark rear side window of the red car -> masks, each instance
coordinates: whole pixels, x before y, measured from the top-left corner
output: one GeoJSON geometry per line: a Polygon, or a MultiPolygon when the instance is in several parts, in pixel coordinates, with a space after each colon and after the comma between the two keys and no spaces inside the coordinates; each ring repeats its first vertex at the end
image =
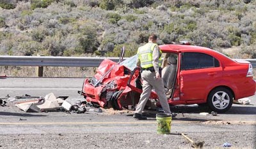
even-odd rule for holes
{"type": "Polygon", "coordinates": [[[220,62],[205,53],[186,52],[182,53],[181,67],[183,70],[220,67],[220,62]]]}

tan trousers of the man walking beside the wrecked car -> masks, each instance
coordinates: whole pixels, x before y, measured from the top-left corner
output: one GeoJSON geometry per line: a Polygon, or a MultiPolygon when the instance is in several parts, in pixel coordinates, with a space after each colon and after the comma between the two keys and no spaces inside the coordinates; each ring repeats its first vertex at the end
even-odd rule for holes
{"type": "Polygon", "coordinates": [[[156,90],[159,101],[164,110],[164,113],[171,113],[170,106],[167,102],[166,94],[164,91],[163,78],[155,79],[156,74],[151,71],[142,71],[141,78],[143,79],[143,92],[140,95],[140,101],[136,106],[135,113],[142,113],[145,105],[147,104],[148,98],[152,91],[152,88],[156,90]]]}

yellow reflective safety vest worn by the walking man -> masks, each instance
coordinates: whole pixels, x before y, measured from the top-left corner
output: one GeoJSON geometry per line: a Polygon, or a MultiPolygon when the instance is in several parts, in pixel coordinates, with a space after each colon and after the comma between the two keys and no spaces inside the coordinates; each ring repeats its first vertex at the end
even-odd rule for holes
{"type": "MultiPolygon", "coordinates": [[[[153,67],[153,50],[157,46],[156,43],[147,43],[146,45],[140,46],[138,49],[138,57],[140,59],[140,65],[143,68],[153,67]]],[[[159,60],[158,65],[161,67],[161,55],[162,51],[159,49],[159,60]]]]}

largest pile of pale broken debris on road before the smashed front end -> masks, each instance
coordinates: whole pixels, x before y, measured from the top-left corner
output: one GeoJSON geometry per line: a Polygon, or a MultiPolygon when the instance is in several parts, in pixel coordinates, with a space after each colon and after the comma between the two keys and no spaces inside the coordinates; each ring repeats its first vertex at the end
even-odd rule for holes
{"type": "Polygon", "coordinates": [[[20,101],[16,103],[15,106],[20,108],[20,110],[26,112],[47,112],[47,111],[66,111],[70,113],[84,113],[86,112],[86,103],[77,101],[74,104],[70,104],[65,99],[68,96],[56,97],[53,93],[47,94],[45,97],[31,97],[26,96],[16,96],[16,99],[28,99],[26,101],[20,101]]]}

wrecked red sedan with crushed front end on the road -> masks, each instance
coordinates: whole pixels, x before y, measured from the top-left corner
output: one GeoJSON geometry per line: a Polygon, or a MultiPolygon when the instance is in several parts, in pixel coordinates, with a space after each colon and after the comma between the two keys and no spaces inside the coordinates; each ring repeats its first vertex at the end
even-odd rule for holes
{"type": "MultiPolygon", "coordinates": [[[[255,94],[250,62],[230,59],[209,48],[174,43],[159,46],[163,52],[162,77],[170,105],[207,104],[213,111],[225,112],[233,100],[255,94]]],[[[142,92],[136,55],[124,62],[105,59],[93,78],[86,78],[81,94],[95,106],[116,110],[135,106],[142,92]]],[[[161,106],[152,91],[148,107],[161,106]]]]}

